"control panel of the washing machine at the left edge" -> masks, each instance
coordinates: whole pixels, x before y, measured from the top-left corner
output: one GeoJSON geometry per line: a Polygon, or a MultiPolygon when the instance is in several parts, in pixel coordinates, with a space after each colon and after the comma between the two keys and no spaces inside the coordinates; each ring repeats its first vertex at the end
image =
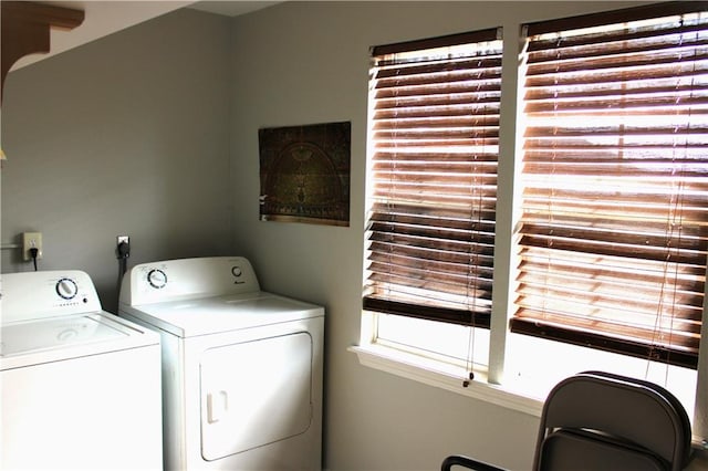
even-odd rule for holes
{"type": "Polygon", "coordinates": [[[3,273],[0,280],[2,324],[101,311],[91,276],[80,270],[3,273]]]}

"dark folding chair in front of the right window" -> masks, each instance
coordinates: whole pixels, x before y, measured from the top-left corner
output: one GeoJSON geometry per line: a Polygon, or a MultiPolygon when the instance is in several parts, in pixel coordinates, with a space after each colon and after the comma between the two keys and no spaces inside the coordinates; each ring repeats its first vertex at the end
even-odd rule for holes
{"type": "MultiPolygon", "coordinates": [[[[690,421],[680,401],[653,383],[605,371],[583,371],[553,387],[541,412],[533,470],[551,471],[544,450],[569,438],[646,459],[656,469],[679,471],[690,461],[690,421]]],[[[447,457],[441,470],[455,465],[504,471],[459,454],[447,457]]]]}

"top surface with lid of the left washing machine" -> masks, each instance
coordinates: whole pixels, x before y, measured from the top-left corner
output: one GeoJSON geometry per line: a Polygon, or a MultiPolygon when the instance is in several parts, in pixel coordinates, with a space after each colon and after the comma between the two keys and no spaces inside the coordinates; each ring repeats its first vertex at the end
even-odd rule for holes
{"type": "Polygon", "coordinates": [[[156,333],[106,312],[13,322],[0,327],[0,369],[158,344],[156,333]]]}

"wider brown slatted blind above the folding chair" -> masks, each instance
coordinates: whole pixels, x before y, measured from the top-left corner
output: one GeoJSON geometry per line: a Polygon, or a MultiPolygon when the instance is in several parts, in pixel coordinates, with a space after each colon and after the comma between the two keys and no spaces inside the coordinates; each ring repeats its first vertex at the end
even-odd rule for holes
{"type": "Polygon", "coordinates": [[[696,368],[708,251],[708,13],[527,25],[512,331],[696,368]]]}

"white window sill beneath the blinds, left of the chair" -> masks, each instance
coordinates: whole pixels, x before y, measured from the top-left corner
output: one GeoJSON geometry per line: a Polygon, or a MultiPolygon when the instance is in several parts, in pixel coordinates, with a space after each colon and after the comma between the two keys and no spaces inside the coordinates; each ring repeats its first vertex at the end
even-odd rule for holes
{"type": "Polygon", "coordinates": [[[462,386],[466,371],[441,362],[426,360],[381,345],[352,346],[348,348],[358,357],[360,364],[389,373],[414,381],[435,386],[451,393],[483,400],[500,407],[541,417],[543,399],[524,395],[508,387],[490,384],[483,373],[475,373],[475,379],[462,386]]]}

